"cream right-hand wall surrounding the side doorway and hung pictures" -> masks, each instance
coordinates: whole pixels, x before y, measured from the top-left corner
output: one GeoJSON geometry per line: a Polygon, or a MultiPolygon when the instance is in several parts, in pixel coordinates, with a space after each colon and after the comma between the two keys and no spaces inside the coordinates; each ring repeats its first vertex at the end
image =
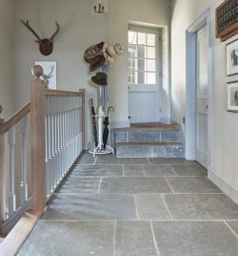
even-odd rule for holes
{"type": "Polygon", "coordinates": [[[186,116],[186,30],[203,11],[211,12],[211,162],[208,177],[238,203],[238,116],[227,112],[226,42],[215,38],[215,8],[222,0],[174,0],[171,19],[172,118],[186,116]]]}

